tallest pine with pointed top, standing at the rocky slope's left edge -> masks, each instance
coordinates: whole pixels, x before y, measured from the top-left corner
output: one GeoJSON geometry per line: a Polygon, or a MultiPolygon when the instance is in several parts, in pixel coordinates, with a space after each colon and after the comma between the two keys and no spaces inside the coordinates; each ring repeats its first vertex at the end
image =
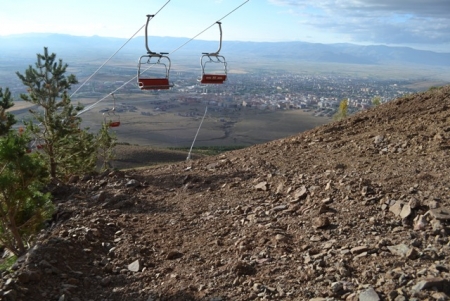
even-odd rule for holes
{"type": "Polygon", "coordinates": [[[37,54],[35,68],[30,65],[24,75],[16,72],[28,91],[20,97],[37,106],[30,110],[36,123],[26,122],[26,126],[35,135],[52,178],[89,172],[96,165],[94,135],[80,129],[77,114],[82,106],[74,107],[68,95],[78,81],[73,74],[65,75],[67,67],[44,47],[44,53],[37,54]]]}

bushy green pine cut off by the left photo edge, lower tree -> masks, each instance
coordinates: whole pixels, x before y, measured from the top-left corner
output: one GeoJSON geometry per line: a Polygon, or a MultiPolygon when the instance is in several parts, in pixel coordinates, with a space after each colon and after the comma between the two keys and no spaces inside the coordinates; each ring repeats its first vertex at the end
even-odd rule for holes
{"type": "Polygon", "coordinates": [[[26,152],[28,143],[26,131],[12,130],[0,138],[0,244],[17,256],[54,211],[50,194],[42,193],[48,178],[45,162],[26,152]]]}

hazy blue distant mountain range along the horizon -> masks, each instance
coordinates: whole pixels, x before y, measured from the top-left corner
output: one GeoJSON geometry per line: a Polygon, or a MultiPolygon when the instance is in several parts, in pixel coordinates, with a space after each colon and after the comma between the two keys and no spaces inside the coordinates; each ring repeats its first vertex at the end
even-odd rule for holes
{"type": "MultiPolygon", "coordinates": [[[[149,47],[155,52],[176,52],[177,56],[201,55],[214,52],[218,41],[189,40],[187,38],[149,37],[149,47]]],[[[58,57],[108,58],[119,50],[127,39],[82,37],[64,34],[22,34],[0,36],[0,63],[2,60],[35,59],[48,47],[58,57]]],[[[144,37],[131,39],[122,49],[123,57],[146,53],[144,37]]],[[[221,54],[234,60],[298,60],[302,62],[344,63],[363,65],[425,65],[450,66],[450,53],[437,53],[408,47],[360,46],[355,44],[318,44],[306,42],[238,42],[223,41],[221,54]]],[[[174,53],[175,55],[175,53],[174,53]]]]}

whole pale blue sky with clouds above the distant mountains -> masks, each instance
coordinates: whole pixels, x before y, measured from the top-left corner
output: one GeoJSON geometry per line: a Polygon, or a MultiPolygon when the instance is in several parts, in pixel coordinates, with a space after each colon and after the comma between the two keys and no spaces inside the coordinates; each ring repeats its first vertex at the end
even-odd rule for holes
{"type": "MultiPolygon", "coordinates": [[[[3,0],[0,36],[354,43],[450,53],[450,0],[3,0]]],[[[1,45],[0,45],[1,47],[1,45]]]]}

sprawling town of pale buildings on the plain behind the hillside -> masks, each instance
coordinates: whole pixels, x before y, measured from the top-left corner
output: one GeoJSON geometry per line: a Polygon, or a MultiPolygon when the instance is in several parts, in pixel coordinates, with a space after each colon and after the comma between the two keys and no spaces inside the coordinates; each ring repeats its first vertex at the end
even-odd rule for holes
{"type": "MultiPolygon", "coordinates": [[[[176,84],[174,99],[183,104],[207,102],[210,107],[247,107],[259,110],[310,110],[331,116],[342,100],[352,112],[416,91],[405,88],[411,82],[355,79],[345,76],[282,74],[232,74],[223,85],[176,84]]],[[[164,92],[165,93],[165,92],[164,92]]]]}

